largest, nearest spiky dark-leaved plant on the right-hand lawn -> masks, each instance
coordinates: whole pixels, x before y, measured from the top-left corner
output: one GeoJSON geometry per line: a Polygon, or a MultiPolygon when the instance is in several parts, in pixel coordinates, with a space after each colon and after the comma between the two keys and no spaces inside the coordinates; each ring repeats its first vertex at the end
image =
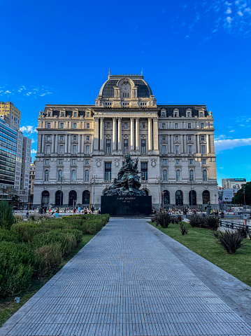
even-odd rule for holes
{"type": "Polygon", "coordinates": [[[213,232],[213,235],[217,238],[217,243],[219,243],[229,255],[234,255],[238,248],[243,246],[243,236],[238,230],[226,230],[225,232],[215,231],[213,232]]]}

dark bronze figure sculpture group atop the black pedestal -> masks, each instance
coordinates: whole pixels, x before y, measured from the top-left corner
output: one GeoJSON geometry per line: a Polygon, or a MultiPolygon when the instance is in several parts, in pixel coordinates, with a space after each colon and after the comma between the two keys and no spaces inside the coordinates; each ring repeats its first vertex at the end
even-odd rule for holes
{"type": "Polygon", "coordinates": [[[124,159],[124,165],[120,168],[117,178],[114,179],[105,195],[145,196],[145,191],[139,190],[141,182],[139,182],[140,177],[138,176],[138,159],[134,162],[129,154],[126,154],[124,159]]]}

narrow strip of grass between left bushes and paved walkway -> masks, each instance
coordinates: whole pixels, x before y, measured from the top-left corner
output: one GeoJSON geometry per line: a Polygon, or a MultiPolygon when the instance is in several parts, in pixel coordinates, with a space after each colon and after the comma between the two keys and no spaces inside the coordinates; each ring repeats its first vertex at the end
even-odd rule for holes
{"type": "Polygon", "coordinates": [[[27,302],[34,294],[36,294],[36,292],[40,290],[40,288],[43,287],[43,285],[45,285],[45,283],[47,283],[47,281],[49,281],[52,276],[62,269],[62,267],[64,267],[64,265],[69,262],[69,260],[71,260],[71,258],[74,257],[74,255],[76,255],[76,253],[78,253],[78,251],[81,250],[81,248],[83,248],[83,246],[85,246],[93,237],[94,235],[92,234],[83,235],[82,240],[78,244],[77,248],[72,250],[71,253],[69,253],[69,255],[64,258],[62,264],[60,264],[59,267],[55,269],[53,274],[51,274],[48,278],[32,280],[31,285],[27,290],[24,290],[18,295],[15,295],[20,297],[20,303],[16,303],[14,301],[14,297],[12,299],[8,297],[7,300],[0,300],[0,327],[8,320],[8,318],[10,318],[10,316],[15,314],[15,312],[20,309],[25,302],[27,302]]]}

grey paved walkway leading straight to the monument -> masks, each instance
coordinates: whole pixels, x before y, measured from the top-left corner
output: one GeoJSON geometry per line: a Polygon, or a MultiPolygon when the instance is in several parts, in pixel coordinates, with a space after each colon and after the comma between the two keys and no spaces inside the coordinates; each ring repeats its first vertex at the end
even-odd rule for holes
{"type": "Polygon", "coordinates": [[[146,220],[112,219],[0,335],[251,335],[250,303],[250,287],[146,220]]]}

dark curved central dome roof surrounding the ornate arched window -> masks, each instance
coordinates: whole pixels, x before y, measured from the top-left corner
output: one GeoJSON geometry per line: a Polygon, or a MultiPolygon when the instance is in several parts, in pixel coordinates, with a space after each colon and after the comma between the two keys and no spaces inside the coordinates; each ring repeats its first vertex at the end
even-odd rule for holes
{"type": "Polygon", "coordinates": [[[138,98],[149,98],[152,95],[152,90],[144,77],[140,74],[115,74],[109,75],[108,80],[103,83],[99,91],[99,95],[103,98],[114,97],[114,86],[117,86],[122,79],[128,79],[138,87],[138,98]]]}

